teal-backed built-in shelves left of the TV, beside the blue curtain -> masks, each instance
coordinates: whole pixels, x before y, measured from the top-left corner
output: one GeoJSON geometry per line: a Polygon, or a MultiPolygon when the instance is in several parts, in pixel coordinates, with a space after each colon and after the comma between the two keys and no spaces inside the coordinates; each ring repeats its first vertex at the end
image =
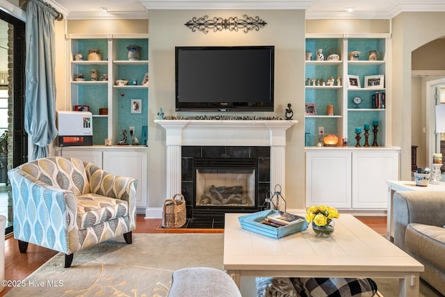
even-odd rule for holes
{"type": "MultiPolygon", "coordinates": [[[[93,116],[93,145],[104,145],[105,139],[118,143],[122,129],[135,127],[140,139],[143,126],[148,120],[148,85],[143,85],[148,73],[148,34],[67,34],[67,93],[70,104],[88,106],[93,116]],[[128,60],[129,45],[140,45],[140,59],[128,60]],[[99,49],[100,61],[88,61],[89,49],[99,49]],[[83,61],[74,60],[82,54],[83,61]],[[91,69],[99,70],[99,80],[91,80],[91,69]],[[83,74],[85,80],[76,77],[83,74]],[[108,74],[108,80],[101,80],[108,74]],[[116,86],[117,79],[129,81],[127,86],[116,86]],[[133,85],[136,81],[136,85],[133,85]],[[131,112],[131,99],[141,99],[141,112],[131,112]],[[108,115],[99,114],[99,109],[108,109],[108,115]],[[131,115],[131,116],[130,116],[131,115]]],[[[131,143],[131,139],[129,139],[131,143]]]]}

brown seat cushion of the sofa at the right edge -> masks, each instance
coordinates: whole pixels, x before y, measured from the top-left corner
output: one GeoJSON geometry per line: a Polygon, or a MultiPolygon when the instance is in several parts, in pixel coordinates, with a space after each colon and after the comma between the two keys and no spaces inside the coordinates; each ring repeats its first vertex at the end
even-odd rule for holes
{"type": "Polygon", "coordinates": [[[445,269],[445,229],[411,223],[405,232],[405,245],[412,252],[445,269]]]}

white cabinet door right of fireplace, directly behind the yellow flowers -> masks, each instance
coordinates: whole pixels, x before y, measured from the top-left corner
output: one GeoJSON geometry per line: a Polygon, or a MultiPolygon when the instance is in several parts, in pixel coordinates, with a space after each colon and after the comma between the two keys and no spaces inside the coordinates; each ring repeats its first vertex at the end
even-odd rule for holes
{"type": "Polygon", "coordinates": [[[347,151],[306,152],[306,207],[351,205],[351,158],[347,151]]]}

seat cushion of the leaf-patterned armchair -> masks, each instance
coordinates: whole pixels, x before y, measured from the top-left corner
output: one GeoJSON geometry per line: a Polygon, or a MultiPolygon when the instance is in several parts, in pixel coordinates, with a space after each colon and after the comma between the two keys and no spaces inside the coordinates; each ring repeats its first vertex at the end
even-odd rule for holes
{"type": "Polygon", "coordinates": [[[128,202],[97,194],[77,196],[79,229],[128,216],[128,202]]]}

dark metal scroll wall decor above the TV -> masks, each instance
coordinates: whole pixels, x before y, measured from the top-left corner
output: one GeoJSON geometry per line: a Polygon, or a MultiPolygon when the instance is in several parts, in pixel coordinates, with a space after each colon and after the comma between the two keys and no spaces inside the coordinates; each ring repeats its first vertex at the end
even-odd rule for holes
{"type": "Polygon", "coordinates": [[[243,19],[238,19],[238,17],[229,17],[228,19],[213,17],[213,19],[209,19],[208,15],[204,15],[204,17],[193,17],[184,25],[188,26],[193,32],[202,31],[202,33],[207,34],[209,30],[216,32],[223,31],[223,29],[236,32],[243,29],[244,33],[248,33],[249,31],[259,31],[266,24],[259,17],[249,17],[248,15],[243,15],[243,19]]]}

